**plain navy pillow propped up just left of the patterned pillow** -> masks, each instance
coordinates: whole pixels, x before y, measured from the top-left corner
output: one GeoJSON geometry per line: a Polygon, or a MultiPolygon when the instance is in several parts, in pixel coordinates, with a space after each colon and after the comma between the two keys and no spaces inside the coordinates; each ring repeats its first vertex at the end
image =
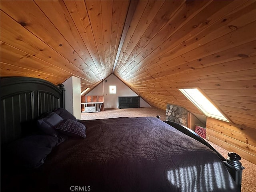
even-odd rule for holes
{"type": "Polygon", "coordinates": [[[58,136],[58,132],[54,129],[56,125],[63,121],[63,119],[54,112],[48,112],[47,115],[37,120],[37,125],[40,130],[50,136],[58,136]]]}

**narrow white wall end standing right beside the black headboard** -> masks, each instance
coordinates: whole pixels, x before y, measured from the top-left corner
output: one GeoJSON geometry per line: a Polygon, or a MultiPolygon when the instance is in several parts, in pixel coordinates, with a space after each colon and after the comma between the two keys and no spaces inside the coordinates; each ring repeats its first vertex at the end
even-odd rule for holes
{"type": "Polygon", "coordinates": [[[64,81],[65,109],[77,119],[81,119],[81,80],[71,76],[64,81]]]}

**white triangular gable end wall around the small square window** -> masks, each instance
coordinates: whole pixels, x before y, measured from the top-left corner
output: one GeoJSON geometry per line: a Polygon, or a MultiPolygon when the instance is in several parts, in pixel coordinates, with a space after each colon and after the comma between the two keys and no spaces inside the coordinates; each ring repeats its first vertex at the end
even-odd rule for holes
{"type": "MultiPolygon", "coordinates": [[[[126,84],[119,80],[114,74],[103,80],[104,92],[102,83],[90,91],[87,96],[104,96],[104,108],[118,108],[118,96],[138,96],[126,84]],[[109,86],[116,85],[116,94],[109,94],[109,86]]],[[[140,98],[140,107],[151,107],[145,100],[140,98]]]]}

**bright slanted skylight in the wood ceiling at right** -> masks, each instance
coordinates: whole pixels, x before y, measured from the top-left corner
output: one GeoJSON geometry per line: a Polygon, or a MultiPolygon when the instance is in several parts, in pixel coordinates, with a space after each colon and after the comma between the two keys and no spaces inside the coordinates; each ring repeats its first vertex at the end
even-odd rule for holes
{"type": "Polygon", "coordinates": [[[179,89],[206,116],[228,121],[226,117],[197,89],[179,89]]]}

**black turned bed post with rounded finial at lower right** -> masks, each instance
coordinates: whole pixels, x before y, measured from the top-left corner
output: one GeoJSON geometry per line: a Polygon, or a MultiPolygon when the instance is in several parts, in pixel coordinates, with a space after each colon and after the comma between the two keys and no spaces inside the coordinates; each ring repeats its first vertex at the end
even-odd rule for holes
{"type": "Polygon", "coordinates": [[[242,166],[240,160],[241,157],[238,154],[234,152],[229,152],[228,158],[226,161],[224,161],[224,164],[228,168],[228,171],[230,172],[232,178],[236,182],[236,185],[241,191],[242,170],[244,170],[244,167],[242,166]]]}

